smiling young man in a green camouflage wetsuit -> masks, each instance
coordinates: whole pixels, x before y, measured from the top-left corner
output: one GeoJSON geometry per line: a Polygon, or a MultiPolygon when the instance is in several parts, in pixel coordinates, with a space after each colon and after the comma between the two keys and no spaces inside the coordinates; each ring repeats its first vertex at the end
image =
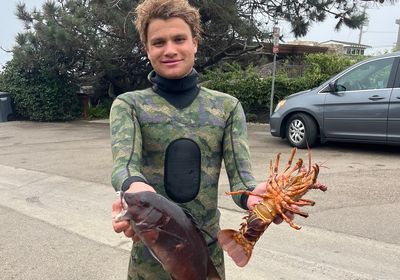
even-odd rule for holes
{"type": "MultiPolygon", "coordinates": [[[[153,191],[187,209],[212,245],[210,256],[224,279],[223,252],[213,242],[219,231],[218,179],[224,159],[232,191],[253,190],[246,120],[239,101],[200,87],[193,69],[200,16],[186,0],[146,0],[136,8],[136,27],[154,69],[152,88],[124,93],[114,101],[110,122],[112,184],[125,192],[153,191]]],[[[257,186],[265,192],[265,183],[257,186]]],[[[234,196],[252,208],[259,198],[234,196]]],[[[121,211],[113,203],[113,217],[121,211]]],[[[170,279],[135,238],[127,221],[116,232],[136,240],[128,279],[170,279]]]]}

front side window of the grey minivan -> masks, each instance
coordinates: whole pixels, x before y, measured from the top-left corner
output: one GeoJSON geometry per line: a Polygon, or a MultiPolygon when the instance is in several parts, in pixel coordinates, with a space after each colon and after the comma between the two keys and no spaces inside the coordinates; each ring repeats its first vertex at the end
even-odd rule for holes
{"type": "Polygon", "coordinates": [[[336,80],[336,91],[383,89],[388,85],[394,58],[370,61],[336,80]]]}

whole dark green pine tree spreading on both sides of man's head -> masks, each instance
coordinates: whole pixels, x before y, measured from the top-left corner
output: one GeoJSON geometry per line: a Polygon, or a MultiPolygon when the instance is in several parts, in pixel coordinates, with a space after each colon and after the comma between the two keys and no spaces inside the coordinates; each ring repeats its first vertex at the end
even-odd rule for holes
{"type": "MultiPolygon", "coordinates": [[[[227,57],[258,50],[270,38],[267,24],[289,21],[296,36],[327,15],[337,27],[357,28],[366,19],[366,0],[190,0],[199,8],[204,42],[198,53],[200,71],[227,57]]],[[[57,0],[28,11],[17,5],[25,31],[18,34],[13,57],[27,68],[38,62],[48,73],[68,76],[77,86],[93,86],[95,96],[115,96],[147,85],[149,61],[132,19],[138,1],[57,0]]]]}

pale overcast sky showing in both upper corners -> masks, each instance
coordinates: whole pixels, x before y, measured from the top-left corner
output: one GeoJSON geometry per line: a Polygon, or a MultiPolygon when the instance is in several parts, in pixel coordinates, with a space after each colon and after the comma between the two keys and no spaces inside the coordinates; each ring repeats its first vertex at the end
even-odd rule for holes
{"type": "MultiPolygon", "coordinates": [[[[21,22],[16,18],[16,4],[23,2],[28,8],[40,8],[45,0],[2,0],[0,4],[0,46],[10,50],[14,45],[15,36],[23,30],[21,22]]],[[[397,40],[399,25],[395,24],[396,19],[400,19],[400,3],[396,5],[378,6],[372,5],[367,10],[369,23],[364,27],[361,36],[361,43],[371,46],[367,49],[367,54],[380,54],[385,50],[391,50],[397,40]]],[[[325,22],[315,24],[309,30],[306,37],[299,40],[323,42],[328,40],[340,40],[357,43],[360,30],[351,30],[343,27],[339,32],[334,31],[335,20],[328,18],[325,22]]],[[[285,41],[293,40],[290,29],[281,26],[281,34],[285,36],[285,41]]],[[[0,67],[11,59],[11,54],[0,49],[0,67]]]]}

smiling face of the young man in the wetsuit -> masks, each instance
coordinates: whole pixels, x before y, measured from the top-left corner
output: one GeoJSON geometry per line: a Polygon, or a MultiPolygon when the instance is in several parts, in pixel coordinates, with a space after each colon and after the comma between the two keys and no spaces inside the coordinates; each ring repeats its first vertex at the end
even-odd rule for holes
{"type": "Polygon", "coordinates": [[[193,68],[197,40],[181,18],[153,19],[147,30],[146,51],[157,74],[180,79],[193,68]]]}

